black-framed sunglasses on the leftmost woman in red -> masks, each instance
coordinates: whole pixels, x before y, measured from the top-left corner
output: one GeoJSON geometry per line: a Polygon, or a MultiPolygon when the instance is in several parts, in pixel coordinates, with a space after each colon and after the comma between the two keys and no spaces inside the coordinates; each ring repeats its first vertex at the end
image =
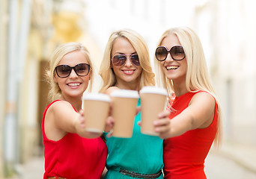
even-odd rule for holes
{"type": "Polygon", "coordinates": [[[55,72],[59,78],[67,78],[72,69],[74,69],[76,75],[86,76],[90,71],[90,65],[87,63],[79,63],[76,66],[60,65],[56,66],[55,72]]]}

